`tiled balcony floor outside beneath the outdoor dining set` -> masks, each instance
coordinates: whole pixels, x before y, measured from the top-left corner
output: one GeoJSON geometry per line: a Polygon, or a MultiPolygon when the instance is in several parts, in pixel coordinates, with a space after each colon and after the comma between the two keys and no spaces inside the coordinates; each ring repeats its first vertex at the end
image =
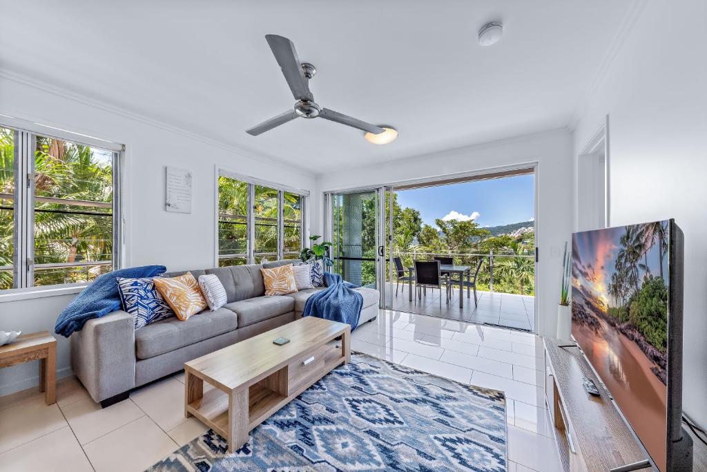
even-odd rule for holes
{"type": "Polygon", "coordinates": [[[459,289],[452,290],[452,299],[447,303],[442,300],[440,291],[427,289],[420,299],[410,301],[407,284],[400,284],[397,295],[396,284],[392,285],[392,308],[395,311],[419,313],[423,315],[468,321],[470,323],[491,323],[526,331],[534,331],[535,297],[525,295],[501,294],[498,292],[477,292],[477,306],[474,306],[474,294],[467,298],[464,291],[464,308],[459,307],[459,289]]]}

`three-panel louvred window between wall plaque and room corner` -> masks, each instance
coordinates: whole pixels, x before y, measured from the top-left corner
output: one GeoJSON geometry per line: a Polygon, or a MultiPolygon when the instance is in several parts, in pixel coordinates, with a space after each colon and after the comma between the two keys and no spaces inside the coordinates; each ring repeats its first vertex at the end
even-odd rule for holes
{"type": "Polygon", "coordinates": [[[218,266],[297,259],[305,197],[276,185],[218,175],[218,266]]]}

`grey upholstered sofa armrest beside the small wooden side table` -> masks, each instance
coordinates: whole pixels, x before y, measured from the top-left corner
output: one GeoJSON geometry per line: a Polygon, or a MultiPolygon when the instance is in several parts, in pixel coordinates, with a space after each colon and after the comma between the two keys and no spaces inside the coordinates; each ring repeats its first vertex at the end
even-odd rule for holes
{"type": "Polygon", "coordinates": [[[133,318],[114,311],[88,320],[71,335],[71,368],[93,400],[135,387],[135,330],[133,318]]]}

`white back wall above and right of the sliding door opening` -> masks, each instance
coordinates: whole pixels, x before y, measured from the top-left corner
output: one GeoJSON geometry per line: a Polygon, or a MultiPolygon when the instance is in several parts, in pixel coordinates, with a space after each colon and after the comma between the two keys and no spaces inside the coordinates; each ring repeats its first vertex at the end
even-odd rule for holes
{"type": "Polygon", "coordinates": [[[573,224],[571,156],[571,135],[557,130],[328,173],[317,179],[318,193],[537,162],[537,328],[554,335],[562,252],[573,224]]]}

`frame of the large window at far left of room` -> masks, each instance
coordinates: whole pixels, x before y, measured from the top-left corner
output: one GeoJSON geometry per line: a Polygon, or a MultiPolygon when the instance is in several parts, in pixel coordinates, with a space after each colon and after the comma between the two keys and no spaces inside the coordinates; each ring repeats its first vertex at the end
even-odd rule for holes
{"type": "MultiPolygon", "coordinates": [[[[29,299],[76,293],[90,282],[37,285],[34,282],[35,267],[77,267],[99,265],[88,263],[47,263],[35,265],[35,146],[36,138],[47,137],[71,142],[81,146],[99,148],[112,154],[112,270],[123,267],[124,258],[124,211],[123,172],[125,145],[86,134],[68,132],[64,129],[26,122],[7,115],[0,115],[0,127],[15,133],[13,192],[13,288],[0,290],[0,301],[29,299]]],[[[104,262],[104,261],[98,261],[104,262]]]]}

